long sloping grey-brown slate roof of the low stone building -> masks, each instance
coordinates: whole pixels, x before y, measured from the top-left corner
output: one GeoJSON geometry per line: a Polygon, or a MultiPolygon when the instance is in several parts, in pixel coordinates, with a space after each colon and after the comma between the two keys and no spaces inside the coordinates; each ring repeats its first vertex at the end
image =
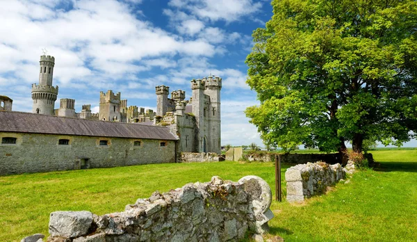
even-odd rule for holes
{"type": "Polygon", "coordinates": [[[0,111],[0,132],[177,140],[167,127],[0,111]]]}

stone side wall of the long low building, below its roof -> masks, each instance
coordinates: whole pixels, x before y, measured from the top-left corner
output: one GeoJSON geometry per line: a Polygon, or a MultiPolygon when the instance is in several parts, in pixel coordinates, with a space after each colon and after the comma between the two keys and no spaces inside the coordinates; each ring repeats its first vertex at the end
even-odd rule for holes
{"type": "Polygon", "coordinates": [[[174,140],[0,132],[3,137],[16,143],[0,143],[0,175],[175,162],[174,140]],[[60,145],[60,139],[68,145],[60,145]]]}

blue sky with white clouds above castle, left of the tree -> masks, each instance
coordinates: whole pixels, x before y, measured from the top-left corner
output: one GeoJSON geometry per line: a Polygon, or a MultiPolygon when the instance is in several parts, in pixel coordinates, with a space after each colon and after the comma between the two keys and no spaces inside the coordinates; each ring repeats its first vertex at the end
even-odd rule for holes
{"type": "Polygon", "coordinates": [[[213,74],[223,79],[222,145],[261,145],[243,113],[258,104],[245,58],[252,31],[271,16],[265,0],[0,1],[0,95],[31,111],[43,48],[56,59],[55,108],[72,98],[76,112],[83,104],[98,112],[106,90],[156,111],[155,86],[189,99],[190,80],[213,74]]]}

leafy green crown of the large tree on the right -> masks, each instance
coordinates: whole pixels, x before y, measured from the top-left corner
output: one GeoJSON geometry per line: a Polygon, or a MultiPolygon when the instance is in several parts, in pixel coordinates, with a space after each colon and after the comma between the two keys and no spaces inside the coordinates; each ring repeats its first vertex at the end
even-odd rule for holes
{"type": "Polygon", "coordinates": [[[274,0],[253,33],[247,108],[262,138],[323,151],[400,145],[417,129],[417,2],[274,0]]]}

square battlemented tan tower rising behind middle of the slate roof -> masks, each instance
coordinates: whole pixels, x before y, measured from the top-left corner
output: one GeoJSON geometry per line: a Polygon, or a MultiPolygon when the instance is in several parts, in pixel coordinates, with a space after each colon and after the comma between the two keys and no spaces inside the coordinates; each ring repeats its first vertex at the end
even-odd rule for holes
{"type": "Polygon", "coordinates": [[[120,92],[100,92],[99,120],[120,122],[120,92]]]}

